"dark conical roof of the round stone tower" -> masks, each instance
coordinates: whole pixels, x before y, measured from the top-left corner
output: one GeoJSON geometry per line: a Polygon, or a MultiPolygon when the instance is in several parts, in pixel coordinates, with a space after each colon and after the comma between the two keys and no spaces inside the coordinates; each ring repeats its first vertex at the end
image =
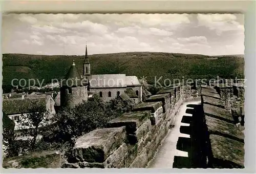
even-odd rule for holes
{"type": "Polygon", "coordinates": [[[81,76],[79,75],[79,73],[77,72],[76,69],[76,64],[75,64],[75,60],[73,60],[73,64],[70,66],[70,69],[68,71],[68,73],[65,76],[65,80],[66,80],[66,85],[68,86],[79,86],[81,85],[81,76]],[[68,79],[72,79],[72,80],[68,80],[68,79]],[[77,83],[76,83],[76,79],[77,79],[77,83]],[[73,83],[73,85],[72,85],[73,83]]]}

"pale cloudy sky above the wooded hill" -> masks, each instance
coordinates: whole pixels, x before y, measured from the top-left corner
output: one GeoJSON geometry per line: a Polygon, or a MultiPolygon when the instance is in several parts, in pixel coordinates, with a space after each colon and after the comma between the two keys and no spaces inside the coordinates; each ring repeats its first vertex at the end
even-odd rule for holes
{"type": "Polygon", "coordinates": [[[2,52],[244,54],[243,14],[3,14],[2,52]]]}

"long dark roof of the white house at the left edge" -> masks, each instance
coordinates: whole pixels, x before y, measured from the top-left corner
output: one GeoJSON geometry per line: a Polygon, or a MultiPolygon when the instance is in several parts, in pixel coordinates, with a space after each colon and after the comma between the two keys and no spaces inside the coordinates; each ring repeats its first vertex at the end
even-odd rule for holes
{"type": "Polygon", "coordinates": [[[37,98],[3,99],[3,112],[7,115],[27,113],[28,108],[34,104],[46,105],[46,96],[37,98]]]}

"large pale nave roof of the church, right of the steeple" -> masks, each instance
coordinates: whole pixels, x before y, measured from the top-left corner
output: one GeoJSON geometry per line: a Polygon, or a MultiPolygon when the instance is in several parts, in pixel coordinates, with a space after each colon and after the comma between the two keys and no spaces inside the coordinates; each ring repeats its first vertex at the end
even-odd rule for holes
{"type": "Polygon", "coordinates": [[[126,88],[125,74],[91,75],[90,88],[126,88]]]}

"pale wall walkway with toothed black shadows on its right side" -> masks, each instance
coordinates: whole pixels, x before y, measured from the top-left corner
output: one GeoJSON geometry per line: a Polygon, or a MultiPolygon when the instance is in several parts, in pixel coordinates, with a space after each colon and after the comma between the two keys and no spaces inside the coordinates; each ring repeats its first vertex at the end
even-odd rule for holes
{"type": "Polygon", "coordinates": [[[175,120],[175,126],[168,131],[159,149],[148,164],[148,168],[190,168],[191,118],[194,108],[201,101],[183,103],[175,120]]]}

